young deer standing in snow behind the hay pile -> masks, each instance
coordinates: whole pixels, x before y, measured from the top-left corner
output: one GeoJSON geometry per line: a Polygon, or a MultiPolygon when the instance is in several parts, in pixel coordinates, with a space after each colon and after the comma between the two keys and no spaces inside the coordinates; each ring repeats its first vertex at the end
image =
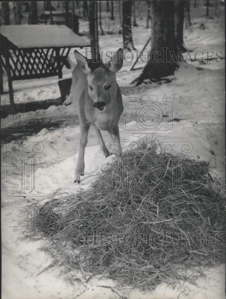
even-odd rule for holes
{"type": "Polygon", "coordinates": [[[100,130],[108,131],[111,140],[117,143],[118,153],[122,152],[118,122],[123,112],[123,101],[115,73],[122,68],[123,50],[118,49],[110,61],[92,62],[74,51],[77,65],[72,72],[71,92],[67,100],[74,103],[80,120],[80,144],[74,183],[80,183],[84,175],[85,147],[88,141],[88,130],[94,125],[100,148],[105,155],[110,155],[103,141],[100,130]]]}

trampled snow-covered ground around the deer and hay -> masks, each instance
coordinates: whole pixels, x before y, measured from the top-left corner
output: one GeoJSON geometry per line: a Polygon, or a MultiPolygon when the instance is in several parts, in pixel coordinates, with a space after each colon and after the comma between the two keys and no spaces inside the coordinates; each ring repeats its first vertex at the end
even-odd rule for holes
{"type": "MultiPolygon", "coordinates": [[[[199,7],[198,9],[201,9],[199,7]]],[[[204,7],[202,7],[204,11],[204,7]]],[[[221,9],[221,7],[219,7],[221,9]]],[[[224,25],[223,17],[219,19],[205,19],[193,16],[191,10],[192,28],[184,30],[185,45],[195,51],[223,51],[224,54],[224,25]],[[205,30],[199,29],[200,24],[205,25],[205,30]]],[[[135,47],[141,50],[149,37],[150,29],[145,28],[145,20],[137,20],[138,27],[133,28],[135,47]]],[[[82,30],[86,30],[87,22],[80,21],[82,30]]],[[[113,25],[112,25],[113,26],[113,25]]],[[[100,49],[103,51],[117,50],[122,45],[122,36],[118,34],[100,36],[100,49]]],[[[150,47],[150,45],[149,45],[150,47]]],[[[148,49],[149,50],[149,49],[148,49]]],[[[81,51],[82,52],[82,51],[81,51]]],[[[70,52],[70,60],[75,63],[73,49],[70,52]]],[[[122,91],[123,103],[129,97],[141,97],[142,94],[157,95],[159,101],[167,97],[172,102],[172,114],[164,117],[158,140],[168,142],[173,150],[180,151],[181,144],[189,144],[190,155],[200,161],[209,162],[210,174],[221,181],[222,193],[225,189],[225,112],[224,112],[224,61],[222,63],[181,63],[175,71],[172,80],[168,84],[142,84],[130,85],[138,77],[141,70],[129,71],[132,62],[125,63],[122,70],[117,73],[117,81],[122,91]],[[197,69],[198,68],[198,69],[197,69]],[[200,69],[201,68],[201,69],[200,69]],[[178,118],[181,120],[168,122],[178,118]],[[171,126],[172,127],[169,127],[171,126]],[[172,130],[171,130],[172,129],[172,130]]],[[[137,67],[140,67],[140,63],[137,67]]],[[[63,69],[63,77],[70,77],[71,71],[63,69]]],[[[21,101],[38,101],[60,97],[57,78],[45,78],[39,80],[24,80],[13,82],[14,96],[21,101]]],[[[4,85],[7,89],[7,84],[4,85]]],[[[71,106],[51,106],[47,110],[26,112],[25,124],[32,126],[34,119],[59,119],[60,115],[71,116],[75,112],[71,106]]],[[[146,125],[152,126],[156,122],[157,115],[149,115],[146,125]]],[[[7,123],[9,117],[2,120],[7,123]]],[[[107,143],[110,138],[107,132],[102,132],[103,139],[107,143]]],[[[144,136],[142,130],[137,130],[134,114],[126,114],[124,110],[120,119],[120,138],[122,145],[144,136]],[[126,123],[126,125],[125,125],[126,123]]],[[[145,132],[146,134],[148,132],[145,132]]],[[[85,175],[81,184],[74,184],[74,169],[76,166],[79,148],[79,123],[62,123],[57,128],[43,126],[38,132],[28,135],[23,141],[22,154],[28,157],[31,148],[39,142],[43,145],[35,157],[35,190],[39,193],[26,194],[26,198],[13,196],[22,187],[21,180],[21,152],[15,152],[15,139],[7,140],[2,144],[2,166],[7,167],[2,171],[1,185],[1,219],[2,219],[2,298],[7,299],[31,299],[31,298],[119,298],[117,293],[110,288],[112,286],[120,295],[123,291],[131,291],[129,298],[224,298],[225,297],[225,265],[204,270],[206,277],[199,278],[196,284],[185,281],[177,281],[175,285],[160,284],[153,292],[142,293],[131,290],[125,286],[117,289],[112,280],[91,279],[87,284],[77,282],[71,286],[64,275],[59,275],[59,269],[51,268],[37,276],[50,263],[51,258],[39,248],[45,240],[28,242],[24,238],[24,228],[21,222],[20,211],[27,201],[42,201],[54,190],[62,192],[77,192],[87,188],[102,167],[112,158],[103,157],[98,145],[98,139],[94,128],[88,135],[88,145],[85,149],[85,175]],[[13,145],[14,144],[14,145],[13,145]],[[14,149],[14,150],[13,150],[14,149]],[[12,167],[11,170],[9,167],[12,167]]],[[[148,135],[150,136],[150,135],[148,135]]],[[[20,141],[20,139],[18,140],[20,141]]],[[[16,140],[17,142],[17,140],[16,140]]],[[[30,157],[31,159],[32,157],[30,157]]],[[[80,273],[77,274],[78,276],[80,273]]]]}

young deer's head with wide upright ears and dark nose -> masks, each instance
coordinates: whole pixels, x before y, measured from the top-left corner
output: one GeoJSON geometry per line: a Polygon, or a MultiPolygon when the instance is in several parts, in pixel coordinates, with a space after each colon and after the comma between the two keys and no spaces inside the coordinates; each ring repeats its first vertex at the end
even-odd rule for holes
{"type": "Polygon", "coordinates": [[[103,111],[108,104],[112,105],[116,101],[117,82],[115,73],[123,65],[123,50],[120,48],[111,57],[110,61],[103,64],[102,62],[90,62],[83,57],[77,50],[74,56],[78,66],[87,74],[88,94],[93,101],[93,105],[98,111],[103,111]]]}

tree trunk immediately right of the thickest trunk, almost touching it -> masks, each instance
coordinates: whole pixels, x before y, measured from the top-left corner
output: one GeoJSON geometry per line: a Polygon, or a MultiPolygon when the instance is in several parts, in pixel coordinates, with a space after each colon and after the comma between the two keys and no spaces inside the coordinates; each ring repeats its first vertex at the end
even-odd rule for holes
{"type": "Polygon", "coordinates": [[[183,0],[174,1],[174,24],[175,24],[175,43],[178,51],[187,51],[184,47],[183,27],[184,27],[184,7],[183,0]]]}

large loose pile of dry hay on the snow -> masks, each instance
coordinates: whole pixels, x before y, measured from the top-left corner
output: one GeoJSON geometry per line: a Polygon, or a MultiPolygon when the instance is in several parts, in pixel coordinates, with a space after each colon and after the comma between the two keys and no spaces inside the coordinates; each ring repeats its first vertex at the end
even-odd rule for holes
{"type": "Polygon", "coordinates": [[[70,269],[153,288],[224,260],[224,206],[206,163],[146,142],[113,158],[87,190],[31,205],[27,235],[48,237],[48,252],[70,269]]]}

